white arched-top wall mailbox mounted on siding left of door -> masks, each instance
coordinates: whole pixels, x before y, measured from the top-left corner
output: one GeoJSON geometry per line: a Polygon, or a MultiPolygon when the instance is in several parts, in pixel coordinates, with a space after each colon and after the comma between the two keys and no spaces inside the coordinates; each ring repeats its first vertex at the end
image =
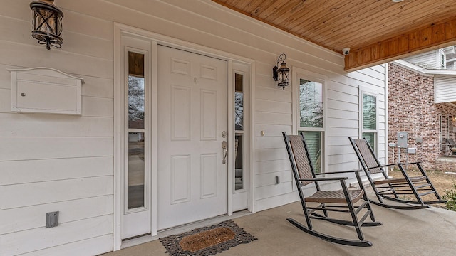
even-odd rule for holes
{"type": "Polygon", "coordinates": [[[11,111],[81,114],[82,78],[53,68],[9,69],[11,111]]]}

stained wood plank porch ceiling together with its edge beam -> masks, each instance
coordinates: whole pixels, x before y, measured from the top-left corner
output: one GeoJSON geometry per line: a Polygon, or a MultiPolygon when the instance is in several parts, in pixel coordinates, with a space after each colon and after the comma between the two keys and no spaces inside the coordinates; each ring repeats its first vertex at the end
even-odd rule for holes
{"type": "Polygon", "coordinates": [[[455,0],[212,0],[342,54],[345,70],[456,44],[455,0]]]}

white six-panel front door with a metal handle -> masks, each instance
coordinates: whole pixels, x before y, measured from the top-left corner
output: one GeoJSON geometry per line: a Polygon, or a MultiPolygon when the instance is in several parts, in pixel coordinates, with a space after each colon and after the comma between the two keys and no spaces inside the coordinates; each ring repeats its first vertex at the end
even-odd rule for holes
{"type": "Polygon", "coordinates": [[[158,46],[157,230],[227,213],[227,62],[158,46]]]}

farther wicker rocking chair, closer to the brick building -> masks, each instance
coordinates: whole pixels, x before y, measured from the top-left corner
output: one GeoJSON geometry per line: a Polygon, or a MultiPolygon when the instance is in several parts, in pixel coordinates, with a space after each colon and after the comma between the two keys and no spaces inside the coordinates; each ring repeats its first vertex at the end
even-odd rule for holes
{"type": "Polygon", "coordinates": [[[368,144],[366,139],[352,139],[349,137],[351,145],[356,152],[356,156],[361,163],[361,166],[366,173],[366,176],[371,183],[373,191],[377,196],[378,201],[371,201],[378,206],[383,206],[386,208],[394,208],[400,210],[416,210],[422,208],[428,208],[428,204],[434,203],[445,203],[445,200],[442,200],[440,195],[435,190],[434,186],[430,182],[430,179],[427,177],[423,167],[421,167],[420,162],[413,163],[396,163],[396,164],[385,164],[381,165],[371,145],[368,144]],[[410,177],[405,171],[405,165],[415,165],[418,170],[420,170],[421,176],[410,177]],[[400,170],[403,177],[400,178],[390,178],[386,174],[385,169],[388,166],[397,166],[400,170]],[[380,180],[373,181],[373,174],[382,174],[380,180]],[[422,196],[433,194],[435,200],[433,201],[424,201],[422,196]],[[405,199],[404,196],[412,196],[415,200],[405,199]],[[390,201],[396,201],[403,204],[394,205],[385,203],[383,199],[388,199],[390,201]]]}

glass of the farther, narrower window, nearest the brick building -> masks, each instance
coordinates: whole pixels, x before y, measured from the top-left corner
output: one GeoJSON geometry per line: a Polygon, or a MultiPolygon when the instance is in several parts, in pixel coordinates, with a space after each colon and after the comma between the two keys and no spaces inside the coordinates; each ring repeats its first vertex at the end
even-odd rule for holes
{"type": "Polygon", "coordinates": [[[377,151],[377,96],[362,93],[362,137],[377,151]]]}

